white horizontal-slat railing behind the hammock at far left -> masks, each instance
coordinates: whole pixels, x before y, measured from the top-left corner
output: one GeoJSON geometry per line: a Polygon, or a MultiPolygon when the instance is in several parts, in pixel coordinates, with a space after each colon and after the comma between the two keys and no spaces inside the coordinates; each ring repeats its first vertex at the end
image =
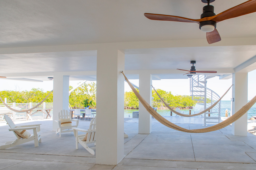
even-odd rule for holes
{"type": "MultiPolygon", "coordinates": [[[[7,103],[8,106],[16,109],[16,110],[27,110],[34,106],[36,106],[39,103],[7,103]]],[[[35,112],[37,109],[49,109],[53,107],[53,103],[46,103],[43,102],[41,105],[39,105],[36,109],[32,110],[32,112],[35,112]]],[[[4,120],[4,114],[7,114],[13,121],[17,120],[26,120],[27,118],[27,112],[22,113],[16,113],[8,109],[4,106],[4,104],[0,103],[0,121],[4,120]]],[[[52,110],[50,112],[50,115],[52,116],[52,110]]],[[[42,112],[35,113],[33,115],[33,118],[46,118],[46,114],[42,112]]]]}

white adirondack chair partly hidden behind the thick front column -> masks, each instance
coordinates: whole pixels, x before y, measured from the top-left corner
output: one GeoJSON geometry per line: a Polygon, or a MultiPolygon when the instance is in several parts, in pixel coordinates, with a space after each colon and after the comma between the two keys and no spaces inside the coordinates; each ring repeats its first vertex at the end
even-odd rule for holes
{"type": "Polygon", "coordinates": [[[80,143],[88,152],[90,152],[92,155],[95,155],[94,149],[96,147],[89,148],[87,144],[94,143],[96,145],[96,116],[92,118],[90,127],[88,130],[80,129],[80,128],[72,128],[74,130],[74,136],[76,137],[76,149],[78,149],[78,143],[80,143]],[[85,134],[78,134],[79,132],[84,132],[85,134]],[[87,134],[86,134],[87,133],[87,134]],[[87,135],[87,138],[86,138],[87,135]],[[83,141],[83,139],[86,138],[86,141],[83,141]]]}

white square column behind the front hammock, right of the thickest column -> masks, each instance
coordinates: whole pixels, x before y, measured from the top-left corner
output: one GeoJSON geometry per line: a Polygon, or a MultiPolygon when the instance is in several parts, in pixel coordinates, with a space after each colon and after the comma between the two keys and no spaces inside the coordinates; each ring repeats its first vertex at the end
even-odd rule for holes
{"type": "MultiPolygon", "coordinates": [[[[139,93],[152,106],[152,75],[147,71],[139,73],[139,93]]],[[[139,133],[150,133],[152,131],[152,116],[139,102],[139,133]]]]}

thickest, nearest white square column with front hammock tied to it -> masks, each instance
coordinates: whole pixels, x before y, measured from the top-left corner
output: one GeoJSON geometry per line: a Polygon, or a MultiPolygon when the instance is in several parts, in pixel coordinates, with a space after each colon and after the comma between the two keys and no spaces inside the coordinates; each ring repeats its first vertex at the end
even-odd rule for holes
{"type": "Polygon", "coordinates": [[[97,50],[96,163],[117,165],[124,158],[124,54],[97,50]]]}

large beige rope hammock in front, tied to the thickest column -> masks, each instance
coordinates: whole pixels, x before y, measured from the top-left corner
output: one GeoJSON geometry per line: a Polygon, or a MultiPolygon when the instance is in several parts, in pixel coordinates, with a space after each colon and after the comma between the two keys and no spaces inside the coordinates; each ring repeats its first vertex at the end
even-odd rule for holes
{"type": "MultiPolygon", "coordinates": [[[[123,75],[124,72],[122,71],[123,75]]],[[[174,123],[171,123],[170,121],[166,120],[164,117],[162,117],[160,114],[158,114],[147,102],[144,98],[142,98],[142,96],[138,93],[138,91],[132,86],[132,84],[129,82],[129,80],[127,79],[127,77],[124,75],[125,80],[127,81],[127,83],[129,84],[129,86],[131,87],[132,91],[134,92],[134,94],[138,97],[139,101],[141,102],[141,104],[146,108],[146,110],[160,123],[162,123],[163,125],[178,130],[178,131],[182,131],[182,132],[188,132],[188,133],[204,133],[204,132],[212,132],[215,130],[220,130],[228,125],[230,125],[231,123],[235,122],[236,120],[238,120],[241,116],[243,116],[256,102],[256,96],[249,101],[246,105],[244,105],[239,111],[237,111],[234,115],[230,116],[229,118],[227,118],[226,120],[224,120],[223,122],[220,122],[216,125],[204,128],[204,129],[185,129],[182,128],[178,125],[175,125],[174,123]]]]}

